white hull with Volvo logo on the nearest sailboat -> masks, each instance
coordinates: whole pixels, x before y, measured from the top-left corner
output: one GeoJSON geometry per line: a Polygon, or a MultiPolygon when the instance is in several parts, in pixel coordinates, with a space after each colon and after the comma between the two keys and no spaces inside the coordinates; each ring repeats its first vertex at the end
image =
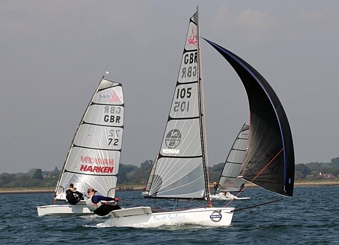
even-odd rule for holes
{"type": "Polygon", "coordinates": [[[159,226],[228,226],[232,221],[234,207],[205,207],[184,211],[152,213],[150,207],[134,207],[112,211],[113,218],[97,224],[97,227],[139,227],[159,226]]]}

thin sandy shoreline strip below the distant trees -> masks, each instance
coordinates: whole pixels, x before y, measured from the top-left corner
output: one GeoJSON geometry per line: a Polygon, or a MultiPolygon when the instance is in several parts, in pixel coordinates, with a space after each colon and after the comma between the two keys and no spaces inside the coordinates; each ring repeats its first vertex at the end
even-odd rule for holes
{"type": "MultiPolygon", "coordinates": [[[[339,185],[339,181],[317,181],[317,182],[295,182],[294,186],[295,187],[302,187],[302,186],[332,186],[332,185],[339,185]]],[[[132,186],[130,186],[132,187],[132,186]]],[[[258,187],[257,185],[254,184],[245,184],[245,187],[247,188],[253,188],[253,187],[258,187]]],[[[210,188],[212,189],[213,186],[210,185],[210,188]]],[[[39,189],[39,188],[0,188],[0,194],[38,194],[38,193],[53,193],[55,191],[55,188],[51,189],[39,189]]],[[[133,186],[132,191],[142,191],[143,187],[140,186],[133,186]]],[[[120,191],[131,191],[130,189],[128,190],[119,190],[118,188],[116,189],[117,192],[120,191]]]]}

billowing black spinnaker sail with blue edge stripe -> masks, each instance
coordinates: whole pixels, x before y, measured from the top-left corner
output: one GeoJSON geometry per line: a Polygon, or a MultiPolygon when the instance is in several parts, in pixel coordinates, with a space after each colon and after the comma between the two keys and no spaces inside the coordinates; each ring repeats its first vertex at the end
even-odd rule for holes
{"type": "Polygon", "coordinates": [[[247,92],[250,137],[241,174],[244,179],[253,180],[265,189],[292,197],[295,168],[292,133],[277,95],[246,61],[214,42],[206,41],[233,67],[247,92]],[[280,150],[281,154],[277,155],[280,150]]]}

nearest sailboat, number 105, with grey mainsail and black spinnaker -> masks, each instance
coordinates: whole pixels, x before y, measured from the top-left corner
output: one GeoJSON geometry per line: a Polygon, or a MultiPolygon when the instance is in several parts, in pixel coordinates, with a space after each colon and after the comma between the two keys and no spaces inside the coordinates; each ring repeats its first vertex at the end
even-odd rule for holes
{"type": "MultiPolygon", "coordinates": [[[[240,174],[254,184],[292,197],[294,150],[284,109],[270,85],[248,63],[206,40],[230,63],[245,86],[250,106],[248,149],[240,174]]],[[[234,207],[213,207],[206,157],[205,111],[201,78],[198,11],[190,18],[180,72],[151,185],[145,198],[204,200],[204,207],[153,212],[140,206],[114,210],[97,227],[151,228],[173,225],[228,226],[234,207]]],[[[272,203],[272,202],[269,202],[272,203]]],[[[194,202],[198,204],[198,202],[194,202]]],[[[268,203],[267,203],[268,204],[268,203]]]]}

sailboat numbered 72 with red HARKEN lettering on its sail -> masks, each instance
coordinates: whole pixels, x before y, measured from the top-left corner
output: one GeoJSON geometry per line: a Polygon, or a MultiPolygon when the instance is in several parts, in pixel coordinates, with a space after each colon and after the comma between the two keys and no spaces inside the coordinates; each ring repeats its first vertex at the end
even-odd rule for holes
{"type": "Polygon", "coordinates": [[[124,119],[122,85],[102,79],[77,127],[51,205],[38,206],[42,215],[91,215],[84,200],[68,204],[73,183],[80,193],[95,188],[98,195],[114,198],[121,153],[124,119]],[[54,204],[57,201],[60,204],[54,204]]]}

